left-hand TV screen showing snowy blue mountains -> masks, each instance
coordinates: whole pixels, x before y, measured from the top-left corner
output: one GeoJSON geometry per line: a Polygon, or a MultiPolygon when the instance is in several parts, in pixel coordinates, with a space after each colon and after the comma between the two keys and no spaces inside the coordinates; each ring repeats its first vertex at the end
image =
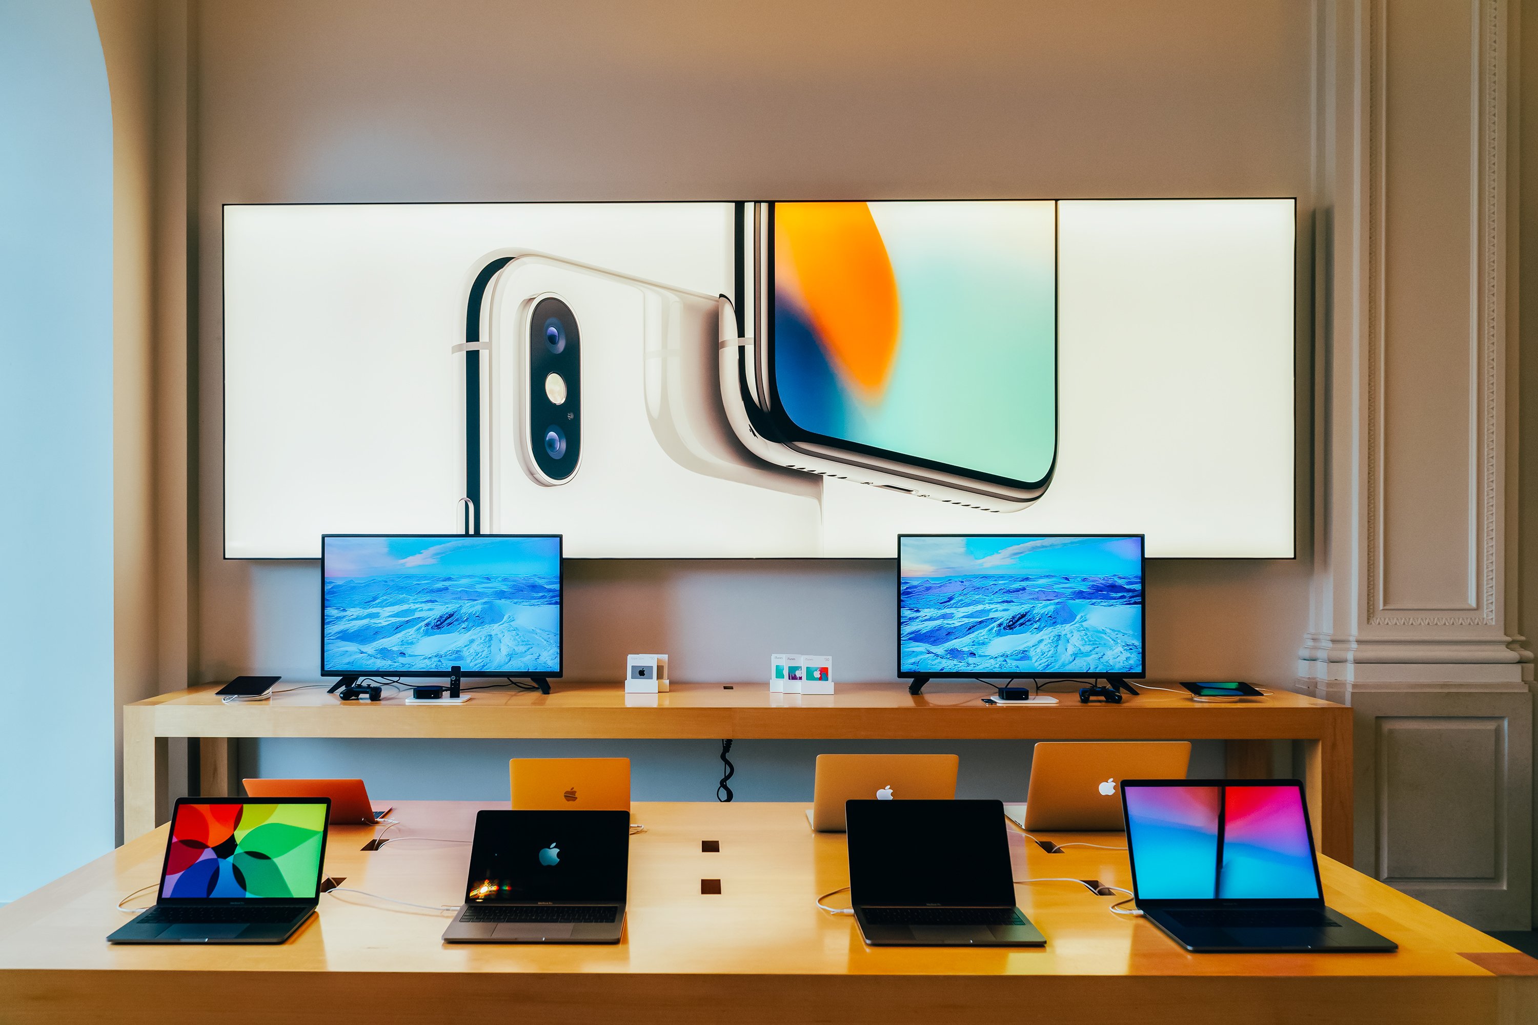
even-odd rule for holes
{"type": "Polygon", "coordinates": [[[557,536],[325,539],[326,672],[561,672],[557,536]]]}

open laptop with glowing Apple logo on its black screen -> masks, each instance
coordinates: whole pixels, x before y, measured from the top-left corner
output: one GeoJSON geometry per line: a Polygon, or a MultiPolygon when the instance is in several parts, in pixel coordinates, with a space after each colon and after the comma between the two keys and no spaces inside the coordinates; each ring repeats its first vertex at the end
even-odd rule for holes
{"type": "Polygon", "coordinates": [[[618,944],[628,811],[481,811],[448,944],[618,944]]]}

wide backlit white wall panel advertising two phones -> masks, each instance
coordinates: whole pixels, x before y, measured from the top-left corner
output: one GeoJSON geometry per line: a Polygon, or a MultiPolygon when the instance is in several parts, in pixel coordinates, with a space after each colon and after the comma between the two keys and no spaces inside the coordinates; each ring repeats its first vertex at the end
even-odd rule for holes
{"type": "Polygon", "coordinates": [[[454,532],[468,493],[575,558],[1293,555],[1292,200],[744,209],[226,207],[226,555],[454,532]],[[772,317],[723,349],[738,240],[772,317]]]}

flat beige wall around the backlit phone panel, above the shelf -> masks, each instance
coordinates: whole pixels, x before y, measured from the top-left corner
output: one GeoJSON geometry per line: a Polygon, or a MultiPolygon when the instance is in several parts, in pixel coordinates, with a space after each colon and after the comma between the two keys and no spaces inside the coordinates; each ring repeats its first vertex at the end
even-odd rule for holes
{"type": "MultiPolygon", "coordinates": [[[[1306,224],[1309,32],[1286,2],[209,5],[201,521],[220,521],[221,203],[1297,195],[1306,224]]],[[[212,529],[200,569],[209,675],[314,675],[312,566],[223,561],[212,529]]],[[[757,678],[812,633],[841,676],[887,679],[887,572],[578,566],[571,665],[667,650],[680,679],[757,678]]],[[[1155,672],[1289,679],[1306,589],[1306,559],[1157,564],[1155,672]]]]}

